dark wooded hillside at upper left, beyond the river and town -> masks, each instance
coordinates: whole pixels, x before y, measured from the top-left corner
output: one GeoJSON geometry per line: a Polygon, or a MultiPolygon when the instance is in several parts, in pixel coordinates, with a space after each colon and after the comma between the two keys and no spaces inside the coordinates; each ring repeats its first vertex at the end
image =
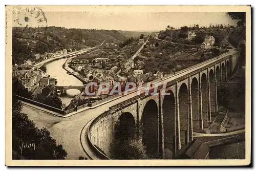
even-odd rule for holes
{"type": "Polygon", "coordinates": [[[12,60],[20,64],[33,54],[56,52],[61,49],[80,50],[105,42],[119,44],[126,37],[117,30],[66,29],[61,27],[14,27],[12,60]]]}

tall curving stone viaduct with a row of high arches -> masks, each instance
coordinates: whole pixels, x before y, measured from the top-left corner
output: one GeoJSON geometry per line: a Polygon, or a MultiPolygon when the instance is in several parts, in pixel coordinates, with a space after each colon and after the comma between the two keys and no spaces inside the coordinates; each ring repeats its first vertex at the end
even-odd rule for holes
{"type": "Polygon", "coordinates": [[[110,157],[115,139],[137,137],[149,154],[174,158],[193,140],[193,132],[207,129],[211,115],[218,112],[217,89],[233,74],[239,60],[234,50],[162,78],[167,81],[157,95],[121,101],[93,120],[88,137],[96,151],[110,157]],[[98,150],[100,148],[100,150],[98,150]]]}

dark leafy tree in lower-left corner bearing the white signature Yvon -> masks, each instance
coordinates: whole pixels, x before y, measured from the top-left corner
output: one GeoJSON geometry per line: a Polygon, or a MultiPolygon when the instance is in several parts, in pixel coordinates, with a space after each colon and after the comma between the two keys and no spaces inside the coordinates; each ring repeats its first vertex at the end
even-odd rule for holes
{"type": "Polygon", "coordinates": [[[67,152],[50,136],[46,128],[38,129],[22,113],[22,104],[12,97],[12,159],[65,159],[67,152]]]}

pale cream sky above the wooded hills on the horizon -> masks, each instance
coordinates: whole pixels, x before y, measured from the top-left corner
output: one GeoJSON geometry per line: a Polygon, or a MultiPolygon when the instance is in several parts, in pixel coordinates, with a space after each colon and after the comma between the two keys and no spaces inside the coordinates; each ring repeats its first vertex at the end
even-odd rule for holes
{"type": "MultiPolygon", "coordinates": [[[[23,12],[22,12],[23,13],[23,12]]],[[[33,18],[29,22],[24,20],[24,13],[18,14],[19,22],[29,23],[37,27],[33,18]]],[[[26,14],[25,14],[26,15],[26,14]]],[[[164,30],[167,25],[181,27],[198,24],[229,24],[236,26],[237,20],[232,20],[226,12],[45,12],[48,26],[106,29],[106,30],[133,30],[158,31],[164,30]]],[[[15,25],[15,22],[14,22],[15,25]]]]}

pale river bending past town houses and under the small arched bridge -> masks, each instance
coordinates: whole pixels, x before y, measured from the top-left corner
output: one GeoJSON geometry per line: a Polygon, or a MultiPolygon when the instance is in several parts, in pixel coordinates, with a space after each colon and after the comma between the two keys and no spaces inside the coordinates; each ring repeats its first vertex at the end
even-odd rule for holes
{"type": "MultiPolygon", "coordinates": [[[[67,74],[67,71],[62,68],[63,63],[65,63],[66,60],[67,58],[61,58],[47,63],[45,65],[47,74],[57,79],[57,86],[83,86],[83,83],[79,79],[73,75],[67,74]]],[[[62,100],[62,103],[69,105],[73,97],[65,96],[60,97],[60,99],[62,100]]]]}

